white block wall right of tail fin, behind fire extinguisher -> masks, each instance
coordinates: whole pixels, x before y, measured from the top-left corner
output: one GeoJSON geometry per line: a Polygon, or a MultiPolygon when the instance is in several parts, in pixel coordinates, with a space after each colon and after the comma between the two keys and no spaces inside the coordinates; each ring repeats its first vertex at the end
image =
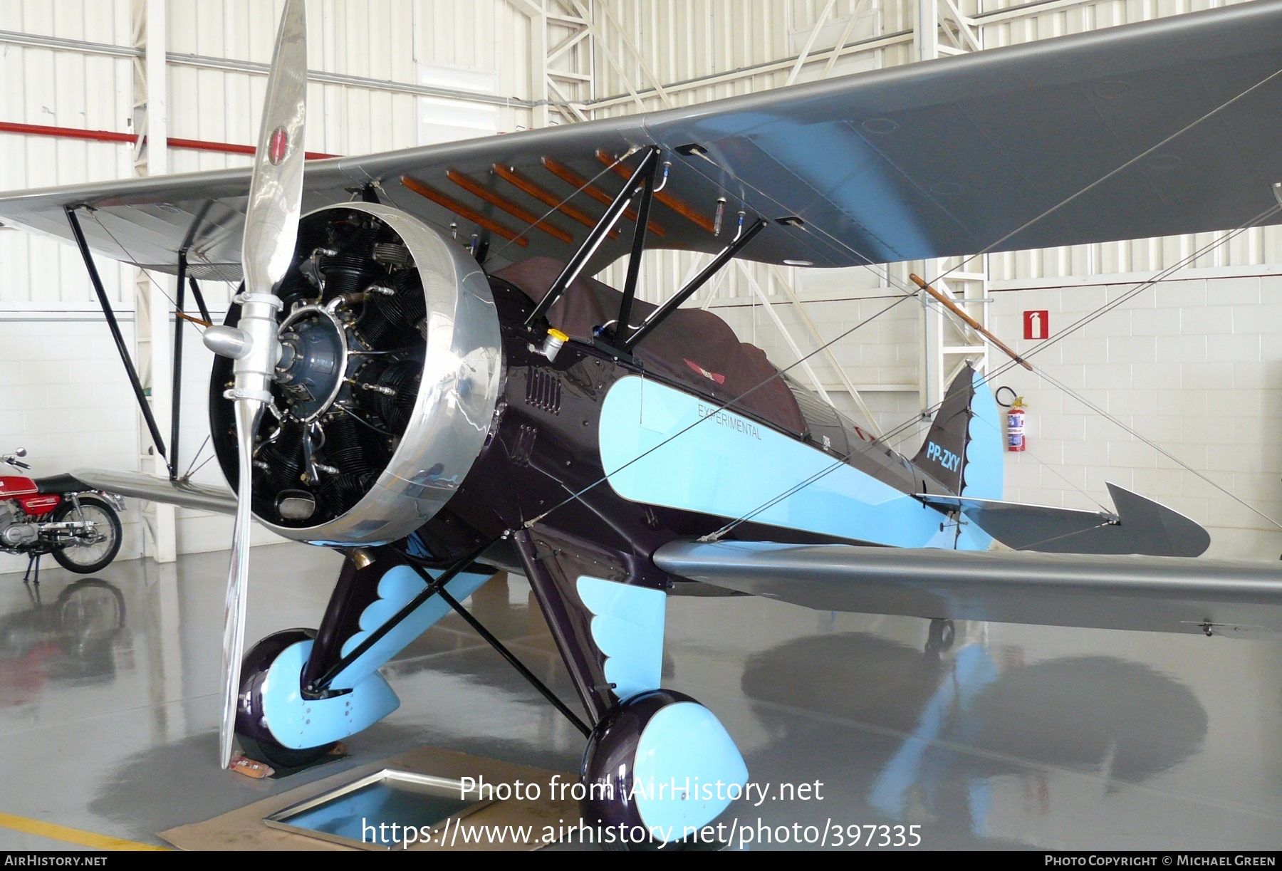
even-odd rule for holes
{"type": "MultiPolygon", "coordinates": [[[[1197,269],[1101,316],[1035,366],[1253,507],[1282,521],[1282,276],[1197,269]]],[[[995,332],[1018,351],[1023,312],[1047,309],[1051,335],[1147,276],[996,282],[995,332]]],[[[1006,498],[1109,505],[1114,481],[1187,513],[1211,553],[1277,559],[1282,530],[1187,472],[1120,426],[1020,368],[996,378],[1029,403],[1029,450],[1008,454],[1006,498]],[[1081,487],[1081,490],[1078,489],[1081,487]],[[1085,493],[1083,493],[1085,490],[1085,493]]]]}

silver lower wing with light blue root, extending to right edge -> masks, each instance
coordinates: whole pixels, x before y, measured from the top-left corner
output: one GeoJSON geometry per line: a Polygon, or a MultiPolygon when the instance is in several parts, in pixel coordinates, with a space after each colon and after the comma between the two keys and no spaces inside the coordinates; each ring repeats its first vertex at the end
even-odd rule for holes
{"type": "Polygon", "coordinates": [[[818,611],[1159,632],[1282,632],[1282,564],[1176,557],[673,541],[673,575],[818,611]]]}

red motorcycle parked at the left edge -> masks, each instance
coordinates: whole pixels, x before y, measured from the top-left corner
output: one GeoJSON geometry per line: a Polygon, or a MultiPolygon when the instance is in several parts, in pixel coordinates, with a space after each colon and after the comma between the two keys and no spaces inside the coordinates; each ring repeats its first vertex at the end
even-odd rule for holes
{"type": "MultiPolygon", "coordinates": [[[[26,471],[31,468],[21,459],[26,455],[19,448],[0,454],[0,463],[26,471]]],[[[40,558],[46,553],[63,568],[90,575],[121,552],[121,511],[124,500],[118,495],[92,490],[72,475],[0,475],[0,550],[27,554],[23,582],[40,584],[40,558]]]]}

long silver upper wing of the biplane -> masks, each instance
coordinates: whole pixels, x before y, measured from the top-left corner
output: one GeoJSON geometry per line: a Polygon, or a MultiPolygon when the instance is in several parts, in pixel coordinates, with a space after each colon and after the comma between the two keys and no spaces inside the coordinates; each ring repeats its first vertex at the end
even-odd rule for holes
{"type": "MultiPolygon", "coordinates": [[[[565,259],[587,227],[555,213],[546,231],[527,231],[477,187],[542,216],[549,205],[496,165],[559,200],[577,183],[546,162],[590,180],[605,169],[600,155],[655,144],[672,176],[651,213],[663,233],[653,246],[719,250],[720,196],[729,230],[741,208],[804,221],[772,223],[745,257],[820,267],[1228,230],[1269,208],[1270,183],[1282,181],[1279,73],[1282,1],[1256,0],[647,115],[318,160],[303,208],[377,181],[385,201],[446,231],[456,224],[464,240],[478,227],[454,207],[501,228],[482,231],[496,267],[565,259]],[[705,153],[682,154],[685,145],[705,153]]],[[[63,208],[87,204],[97,251],[172,271],[187,246],[197,277],[236,278],[249,174],[12,194],[0,198],[0,221],[69,239],[63,208]]],[[[622,181],[606,171],[595,186],[612,194],[622,181]]],[[[582,194],[572,204],[604,209],[582,194]]],[[[597,263],[622,255],[627,236],[597,263]]]]}

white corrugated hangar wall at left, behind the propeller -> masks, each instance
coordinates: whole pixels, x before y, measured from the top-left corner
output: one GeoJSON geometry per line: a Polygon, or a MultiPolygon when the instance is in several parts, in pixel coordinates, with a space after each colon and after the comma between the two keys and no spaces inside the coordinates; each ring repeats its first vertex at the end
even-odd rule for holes
{"type": "MultiPolygon", "coordinates": [[[[254,144],[267,85],[260,65],[271,60],[281,8],[263,0],[169,0],[171,137],[254,144]]],[[[397,90],[429,85],[523,97],[529,22],[505,0],[309,0],[308,15],[312,69],[385,80],[381,86],[313,82],[309,150],[363,154],[531,123],[519,105],[478,108],[397,90]]],[[[0,1],[0,121],[133,132],[133,22],[131,0],[0,1]],[[53,45],[23,44],[24,35],[53,45]]],[[[168,163],[171,172],[191,172],[245,165],[249,158],[171,149],[168,163]]],[[[133,174],[129,144],[0,133],[0,190],[133,174]]],[[[133,345],[137,272],[104,258],[99,268],[133,345]]],[[[172,278],[153,280],[173,295],[172,278]]],[[[203,287],[221,317],[232,289],[203,287]]],[[[181,468],[209,431],[210,357],[194,332],[183,357],[181,468]]],[[[168,431],[164,422],[162,428],[168,431]]],[[[135,469],[142,444],[133,396],[78,253],[0,228],[0,450],[24,445],[36,472],[53,473],[79,466],[135,469]]],[[[208,463],[195,477],[217,481],[221,473],[208,463]]],[[[144,521],[135,507],[124,520],[123,554],[137,555],[144,521]]],[[[179,509],[178,521],[179,552],[227,545],[226,518],[179,509]]],[[[0,571],[23,566],[0,554],[0,571]]]]}

